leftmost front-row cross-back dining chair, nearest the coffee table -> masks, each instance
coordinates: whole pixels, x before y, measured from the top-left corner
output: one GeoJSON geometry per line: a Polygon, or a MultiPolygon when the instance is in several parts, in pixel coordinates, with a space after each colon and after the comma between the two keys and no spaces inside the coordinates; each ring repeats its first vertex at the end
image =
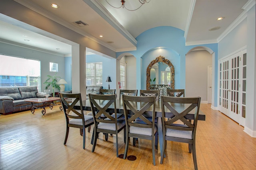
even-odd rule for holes
{"type": "Polygon", "coordinates": [[[69,127],[80,129],[80,135],[83,135],[83,149],[85,149],[85,128],[94,123],[93,117],[84,115],[81,94],[59,93],[60,101],[66,117],[66,137],[64,145],[68,140],[69,127]],[[75,110],[74,106],[79,103],[80,110],[75,110]]]}

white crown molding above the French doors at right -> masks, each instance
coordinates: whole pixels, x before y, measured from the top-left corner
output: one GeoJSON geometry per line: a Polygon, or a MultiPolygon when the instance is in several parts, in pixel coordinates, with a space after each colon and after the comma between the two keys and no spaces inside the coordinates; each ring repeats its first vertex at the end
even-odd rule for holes
{"type": "Polygon", "coordinates": [[[242,14],[240,14],[240,16],[238,16],[238,18],[236,18],[236,20],[234,20],[234,22],[232,22],[227,29],[220,34],[220,36],[217,38],[218,43],[225,38],[239,23],[241,23],[245,18],[247,17],[247,11],[244,10],[242,12],[242,14]]]}

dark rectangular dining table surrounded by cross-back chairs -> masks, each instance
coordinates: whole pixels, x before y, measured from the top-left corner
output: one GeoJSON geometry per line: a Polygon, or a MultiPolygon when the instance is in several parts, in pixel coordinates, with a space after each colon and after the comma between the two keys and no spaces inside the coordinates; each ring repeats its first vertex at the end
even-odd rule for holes
{"type": "MultiPolygon", "coordinates": [[[[105,106],[106,102],[108,101],[98,101],[98,104],[100,106],[105,106]]],[[[137,109],[139,110],[140,107],[143,107],[144,104],[141,103],[133,103],[134,106],[137,107],[137,109]]],[[[186,109],[188,106],[190,106],[190,104],[177,104],[177,103],[172,103],[172,106],[177,110],[177,111],[183,111],[184,109],[186,109]]],[[[90,106],[90,100],[83,100],[82,101],[82,108],[83,110],[86,111],[91,111],[91,106],[90,106]]],[[[76,106],[74,106],[74,109],[80,109],[80,103],[78,102],[76,104],[76,106]]],[[[96,109],[96,108],[95,108],[96,109]]],[[[129,109],[129,108],[128,108],[129,109]]],[[[108,109],[106,110],[109,113],[114,113],[114,103],[108,107],[108,109]]],[[[116,99],[116,112],[117,113],[122,113],[124,114],[124,107],[123,107],[123,102],[122,100],[116,99]]],[[[131,112],[132,113],[132,112],[131,112]]],[[[167,108],[165,108],[165,113],[166,113],[166,117],[174,117],[174,114],[169,111],[167,108]]],[[[192,111],[190,111],[190,113],[188,113],[185,118],[188,120],[193,120],[194,119],[194,113],[195,113],[195,109],[193,109],[192,111]]],[[[144,113],[145,116],[152,116],[152,106],[144,113]]],[[[162,147],[163,147],[163,130],[162,130],[162,106],[161,106],[161,102],[156,102],[155,105],[155,116],[157,118],[157,128],[158,128],[158,139],[159,139],[159,145],[160,145],[160,151],[162,151],[162,147]]],[[[199,115],[198,115],[198,120],[199,121],[205,121],[205,114],[202,113],[202,111],[199,110],[199,115]]],[[[156,146],[157,147],[157,146],[156,146]]]]}

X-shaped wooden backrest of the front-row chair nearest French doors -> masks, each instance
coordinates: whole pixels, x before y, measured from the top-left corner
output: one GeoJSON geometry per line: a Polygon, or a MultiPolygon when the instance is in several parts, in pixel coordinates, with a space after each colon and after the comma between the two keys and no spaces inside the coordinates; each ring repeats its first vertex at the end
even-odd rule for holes
{"type": "Polygon", "coordinates": [[[166,128],[192,131],[192,139],[195,139],[200,101],[200,97],[175,98],[161,96],[163,134],[166,133],[166,128]],[[186,117],[192,110],[195,110],[193,123],[186,117]],[[166,121],[166,112],[173,113],[174,117],[166,121]]]}

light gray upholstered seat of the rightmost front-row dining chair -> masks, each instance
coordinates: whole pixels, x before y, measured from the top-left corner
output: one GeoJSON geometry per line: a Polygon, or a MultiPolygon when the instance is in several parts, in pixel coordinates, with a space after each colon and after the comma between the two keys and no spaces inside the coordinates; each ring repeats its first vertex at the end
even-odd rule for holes
{"type": "MultiPolygon", "coordinates": [[[[182,124],[173,124],[173,125],[179,126],[179,127],[188,127],[187,125],[182,125],[182,124]]],[[[192,131],[180,131],[176,129],[166,128],[166,136],[192,139],[192,131]]]]}

